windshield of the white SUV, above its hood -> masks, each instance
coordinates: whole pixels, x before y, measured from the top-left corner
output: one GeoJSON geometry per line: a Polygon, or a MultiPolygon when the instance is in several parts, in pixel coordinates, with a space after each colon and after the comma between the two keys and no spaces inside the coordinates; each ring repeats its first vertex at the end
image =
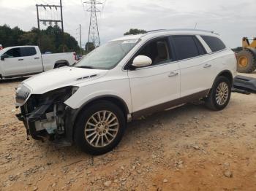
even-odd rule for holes
{"type": "Polygon", "coordinates": [[[138,39],[108,42],[97,47],[74,66],[86,69],[112,69],[137,42],[138,39]]]}

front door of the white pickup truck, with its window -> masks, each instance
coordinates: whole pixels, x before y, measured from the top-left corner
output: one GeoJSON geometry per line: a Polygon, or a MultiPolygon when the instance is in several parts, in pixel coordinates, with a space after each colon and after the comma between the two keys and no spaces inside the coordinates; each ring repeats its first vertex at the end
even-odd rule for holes
{"type": "Polygon", "coordinates": [[[3,55],[7,55],[4,61],[1,61],[1,68],[3,69],[3,77],[18,76],[20,74],[26,74],[26,62],[21,55],[20,47],[14,47],[3,55]]]}

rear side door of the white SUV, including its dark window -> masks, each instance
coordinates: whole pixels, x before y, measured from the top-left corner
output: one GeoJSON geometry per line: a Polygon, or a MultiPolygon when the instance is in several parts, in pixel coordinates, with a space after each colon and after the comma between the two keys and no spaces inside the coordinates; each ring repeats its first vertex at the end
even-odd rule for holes
{"type": "Polygon", "coordinates": [[[207,93],[216,72],[200,40],[195,35],[175,35],[170,38],[181,69],[181,97],[207,93]]]}

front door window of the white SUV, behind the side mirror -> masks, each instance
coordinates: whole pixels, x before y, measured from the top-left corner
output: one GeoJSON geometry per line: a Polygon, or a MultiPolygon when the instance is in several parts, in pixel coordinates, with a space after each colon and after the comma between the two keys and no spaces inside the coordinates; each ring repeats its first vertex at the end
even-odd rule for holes
{"type": "Polygon", "coordinates": [[[136,55],[148,56],[152,60],[152,65],[165,63],[171,60],[168,43],[167,38],[156,39],[148,42],[136,55]]]}

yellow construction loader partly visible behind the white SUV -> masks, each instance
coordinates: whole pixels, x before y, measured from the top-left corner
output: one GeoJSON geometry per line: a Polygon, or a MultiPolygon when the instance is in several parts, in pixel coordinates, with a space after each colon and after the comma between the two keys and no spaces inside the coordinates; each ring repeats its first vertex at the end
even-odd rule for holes
{"type": "Polygon", "coordinates": [[[256,38],[243,38],[243,50],[236,54],[237,71],[252,73],[256,69],[256,38]]]}

